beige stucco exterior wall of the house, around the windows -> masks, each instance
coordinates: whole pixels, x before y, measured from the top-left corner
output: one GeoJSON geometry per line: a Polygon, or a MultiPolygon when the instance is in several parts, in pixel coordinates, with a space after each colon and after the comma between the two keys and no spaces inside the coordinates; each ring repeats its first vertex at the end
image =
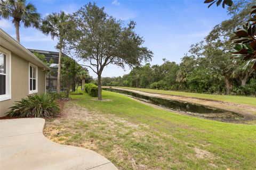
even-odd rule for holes
{"type": "MultiPolygon", "coordinates": [[[[5,116],[14,101],[20,101],[29,95],[28,83],[29,62],[11,53],[11,99],[0,101],[0,117],[5,116]]],[[[38,93],[41,92],[45,92],[45,72],[38,67],[38,93]]]]}

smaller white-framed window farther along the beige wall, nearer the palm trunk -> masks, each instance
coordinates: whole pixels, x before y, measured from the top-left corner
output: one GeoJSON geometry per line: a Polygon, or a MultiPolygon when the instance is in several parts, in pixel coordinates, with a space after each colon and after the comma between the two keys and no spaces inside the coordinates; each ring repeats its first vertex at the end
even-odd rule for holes
{"type": "Polygon", "coordinates": [[[29,63],[29,94],[37,92],[37,66],[29,63]]]}

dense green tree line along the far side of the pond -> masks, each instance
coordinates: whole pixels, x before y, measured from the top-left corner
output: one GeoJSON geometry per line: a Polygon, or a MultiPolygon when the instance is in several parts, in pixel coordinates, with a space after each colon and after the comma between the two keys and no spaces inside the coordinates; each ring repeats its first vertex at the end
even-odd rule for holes
{"type": "Polygon", "coordinates": [[[250,19],[255,1],[236,1],[228,7],[229,20],[211,30],[201,42],[191,45],[181,63],[163,60],[162,65],[135,67],[117,78],[102,78],[102,86],[127,86],[164,90],[182,90],[207,94],[256,95],[253,62],[234,60],[231,54],[234,32],[250,19]]]}

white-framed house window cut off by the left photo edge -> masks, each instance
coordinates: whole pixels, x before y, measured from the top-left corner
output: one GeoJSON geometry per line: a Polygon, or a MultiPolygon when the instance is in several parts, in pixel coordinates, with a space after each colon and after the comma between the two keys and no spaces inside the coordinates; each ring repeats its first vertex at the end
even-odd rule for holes
{"type": "Polygon", "coordinates": [[[0,46],[0,101],[11,99],[11,52],[0,46]]]}

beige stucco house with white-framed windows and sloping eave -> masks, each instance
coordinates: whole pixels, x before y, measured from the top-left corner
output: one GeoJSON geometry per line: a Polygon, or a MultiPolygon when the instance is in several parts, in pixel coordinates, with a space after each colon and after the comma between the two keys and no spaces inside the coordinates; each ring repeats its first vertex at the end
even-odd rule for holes
{"type": "Polygon", "coordinates": [[[49,70],[49,66],[0,28],[0,117],[15,101],[45,92],[49,70]]]}

